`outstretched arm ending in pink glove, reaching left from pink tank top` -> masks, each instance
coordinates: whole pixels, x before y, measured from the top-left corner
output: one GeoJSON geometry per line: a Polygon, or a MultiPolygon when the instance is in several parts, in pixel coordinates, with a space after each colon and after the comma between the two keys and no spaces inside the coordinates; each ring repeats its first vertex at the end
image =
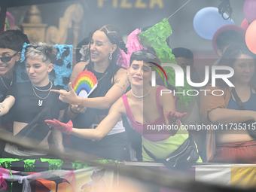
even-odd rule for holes
{"type": "Polygon", "coordinates": [[[117,124],[122,116],[123,107],[123,101],[118,99],[118,101],[111,106],[108,115],[101,121],[101,123],[99,123],[99,126],[97,126],[96,129],[76,129],[73,128],[72,121],[69,121],[69,123],[60,123],[57,120],[45,120],[45,122],[49,126],[53,126],[63,133],[72,134],[84,139],[100,140],[117,124]]]}

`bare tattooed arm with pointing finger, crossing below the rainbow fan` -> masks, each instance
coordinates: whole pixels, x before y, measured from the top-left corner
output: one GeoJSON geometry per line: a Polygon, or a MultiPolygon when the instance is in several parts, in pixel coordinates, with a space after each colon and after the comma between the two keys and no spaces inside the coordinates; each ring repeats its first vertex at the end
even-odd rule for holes
{"type": "Polygon", "coordinates": [[[110,90],[108,90],[108,93],[106,93],[105,96],[102,97],[81,98],[77,96],[75,91],[72,89],[71,84],[69,84],[69,92],[67,92],[66,90],[51,91],[59,93],[59,99],[62,100],[62,102],[81,105],[87,108],[105,109],[110,108],[111,105],[125,93],[128,87],[129,82],[126,79],[126,70],[120,69],[117,72],[114,85],[111,87],[110,90]]]}

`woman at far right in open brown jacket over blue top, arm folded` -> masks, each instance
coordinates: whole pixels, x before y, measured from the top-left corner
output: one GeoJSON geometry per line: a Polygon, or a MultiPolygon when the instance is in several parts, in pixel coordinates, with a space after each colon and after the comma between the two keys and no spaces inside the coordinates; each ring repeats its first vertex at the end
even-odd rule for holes
{"type": "MultiPolygon", "coordinates": [[[[206,153],[209,162],[256,163],[256,140],[251,136],[245,121],[256,121],[256,75],[255,58],[246,46],[230,46],[221,57],[219,66],[230,66],[234,70],[229,78],[234,87],[229,87],[222,79],[216,80],[216,87],[209,83],[209,90],[203,97],[200,112],[204,122],[221,124],[224,130],[208,130],[206,153]],[[220,96],[213,96],[215,94],[220,96]],[[232,92],[231,92],[232,90],[232,92]],[[240,110],[233,90],[241,100],[245,110],[240,110]],[[223,94],[222,94],[223,93],[223,94]],[[233,123],[233,126],[227,126],[233,123]],[[240,124],[239,124],[240,123],[240,124]]],[[[222,71],[225,74],[227,71],[222,71]]]]}

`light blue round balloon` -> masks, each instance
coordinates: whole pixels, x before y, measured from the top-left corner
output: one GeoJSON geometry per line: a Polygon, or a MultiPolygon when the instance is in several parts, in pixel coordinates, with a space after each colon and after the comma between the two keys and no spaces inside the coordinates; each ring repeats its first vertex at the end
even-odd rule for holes
{"type": "MultiPolygon", "coordinates": [[[[224,14],[224,18],[227,18],[224,14]]],[[[198,35],[202,38],[212,39],[215,32],[221,26],[235,24],[233,20],[224,20],[218,13],[218,8],[208,7],[197,12],[194,17],[193,25],[198,35]]]]}

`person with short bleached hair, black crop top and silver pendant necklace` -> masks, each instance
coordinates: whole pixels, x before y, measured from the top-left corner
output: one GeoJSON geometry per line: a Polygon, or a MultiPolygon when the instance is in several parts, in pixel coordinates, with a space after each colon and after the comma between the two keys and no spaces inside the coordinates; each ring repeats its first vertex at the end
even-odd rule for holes
{"type": "MultiPolygon", "coordinates": [[[[55,147],[63,152],[62,133],[59,130],[50,129],[44,123],[44,119],[48,119],[49,117],[62,120],[65,109],[68,107],[66,103],[58,99],[58,94],[50,93],[51,89],[59,89],[49,79],[49,73],[53,70],[53,62],[55,61],[56,54],[56,48],[41,42],[33,43],[25,48],[26,72],[29,75],[30,81],[16,83],[11,86],[6,99],[0,103],[2,107],[0,116],[8,113],[12,109],[14,136],[23,138],[27,136],[25,133],[21,134],[23,133],[23,129],[28,130],[27,133],[33,130],[35,134],[32,139],[35,139],[35,141],[38,140],[36,147],[48,149],[48,138],[51,135],[55,147]],[[49,108],[48,112],[44,110],[46,107],[49,108]],[[45,112],[41,113],[43,110],[45,112]],[[40,118],[37,120],[36,117],[38,117],[38,114],[40,114],[40,118]],[[41,119],[43,119],[42,123],[41,119]],[[29,126],[29,123],[33,121],[35,121],[36,126],[34,124],[29,126]],[[43,128],[46,128],[44,129],[46,132],[44,132],[44,136],[41,136],[40,129],[43,128]],[[38,129],[38,132],[35,129],[38,129]]],[[[2,157],[39,158],[51,156],[36,150],[7,143],[2,157]]]]}

